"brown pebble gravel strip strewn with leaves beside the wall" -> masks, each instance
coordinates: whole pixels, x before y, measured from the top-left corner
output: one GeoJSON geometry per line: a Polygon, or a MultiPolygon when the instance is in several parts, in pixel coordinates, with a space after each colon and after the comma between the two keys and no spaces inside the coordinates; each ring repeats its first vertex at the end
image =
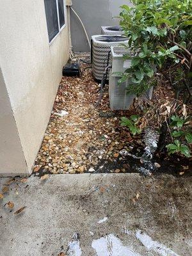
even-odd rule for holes
{"type": "MultiPolygon", "coordinates": [[[[97,172],[104,161],[113,163],[120,150],[128,147],[132,138],[118,129],[116,113],[120,111],[110,111],[108,93],[102,106],[95,108],[98,89],[90,69],[84,70],[82,77],[63,77],[35,171],[83,173],[95,168],[97,172]]],[[[125,167],[119,170],[118,166],[108,172],[116,169],[125,172],[125,167]]]]}

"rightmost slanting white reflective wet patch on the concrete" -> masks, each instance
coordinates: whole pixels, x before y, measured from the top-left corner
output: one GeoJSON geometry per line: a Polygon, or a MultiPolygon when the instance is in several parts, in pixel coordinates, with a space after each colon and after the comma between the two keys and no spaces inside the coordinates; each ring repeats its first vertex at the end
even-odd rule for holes
{"type": "Polygon", "coordinates": [[[170,248],[167,248],[166,246],[158,243],[157,241],[153,241],[150,236],[141,232],[141,230],[138,230],[136,232],[136,237],[148,250],[154,250],[154,252],[159,253],[159,255],[161,256],[179,256],[170,248]]]}

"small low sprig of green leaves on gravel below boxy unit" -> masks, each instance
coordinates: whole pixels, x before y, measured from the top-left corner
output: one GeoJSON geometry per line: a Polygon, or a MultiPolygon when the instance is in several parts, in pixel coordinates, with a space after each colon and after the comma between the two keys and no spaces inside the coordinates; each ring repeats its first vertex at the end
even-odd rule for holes
{"type": "Polygon", "coordinates": [[[127,118],[127,117],[122,117],[121,118],[121,125],[122,126],[126,126],[129,128],[129,130],[131,131],[131,133],[133,135],[137,134],[137,133],[140,133],[141,132],[141,129],[137,126],[137,122],[138,122],[138,119],[140,118],[140,116],[138,115],[131,115],[130,116],[130,119],[127,118]]]}

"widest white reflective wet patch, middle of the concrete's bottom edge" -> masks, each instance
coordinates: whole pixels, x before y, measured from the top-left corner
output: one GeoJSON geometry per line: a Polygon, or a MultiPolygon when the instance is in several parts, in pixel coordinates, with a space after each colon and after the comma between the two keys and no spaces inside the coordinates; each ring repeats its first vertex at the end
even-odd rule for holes
{"type": "Polygon", "coordinates": [[[140,256],[131,248],[124,246],[113,234],[93,240],[92,247],[97,252],[97,256],[140,256]]]}

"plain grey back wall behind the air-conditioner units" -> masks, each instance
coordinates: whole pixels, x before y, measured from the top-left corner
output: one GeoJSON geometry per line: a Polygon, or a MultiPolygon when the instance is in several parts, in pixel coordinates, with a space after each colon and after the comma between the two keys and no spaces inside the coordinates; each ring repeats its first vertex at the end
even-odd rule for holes
{"type": "MultiPolygon", "coordinates": [[[[89,38],[100,34],[101,26],[116,26],[120,13],[119,6],[131,3],[127,0],[72,0],[74,10],[83,21],[89,38]]],[[[74,51],[90,51],[83,28],[76,15],[71,12],[72,45],[74,51]]]]}

